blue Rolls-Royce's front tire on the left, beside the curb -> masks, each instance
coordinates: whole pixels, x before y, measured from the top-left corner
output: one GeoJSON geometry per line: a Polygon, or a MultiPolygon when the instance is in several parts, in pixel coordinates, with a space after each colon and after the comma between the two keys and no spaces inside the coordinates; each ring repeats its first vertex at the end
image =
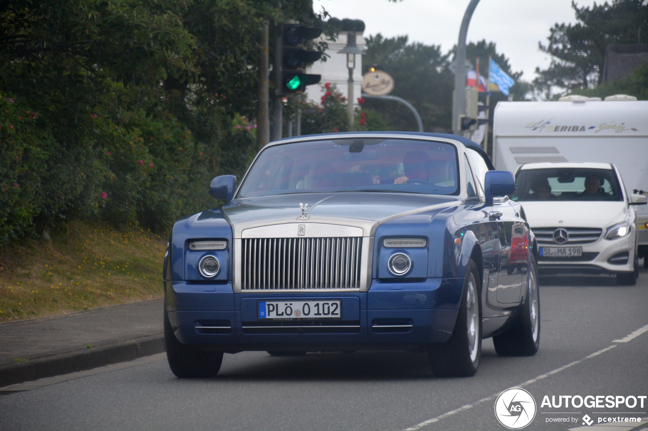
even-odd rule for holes
{"type": "Polygon", "coordinates": [[[164,313],[164,346],[167,350],[168,366],[176,377],[181,379],[214,377],[223,362],[222,352],[204,352],[196,346],[179,342],[168,321],[167,310],[164,313]]]}

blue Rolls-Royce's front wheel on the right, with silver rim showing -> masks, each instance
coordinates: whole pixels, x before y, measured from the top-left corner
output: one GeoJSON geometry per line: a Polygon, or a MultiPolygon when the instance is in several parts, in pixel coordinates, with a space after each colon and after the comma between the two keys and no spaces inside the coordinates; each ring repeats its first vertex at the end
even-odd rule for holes
{"type": "Polygon", "coordinates": [[[433,344],[428,350],[430,368],[437,377],[475,375],[481,357],[481,286],[480,273],[470,259],[463,282],[457,321],[450,339],[433,344]]]}

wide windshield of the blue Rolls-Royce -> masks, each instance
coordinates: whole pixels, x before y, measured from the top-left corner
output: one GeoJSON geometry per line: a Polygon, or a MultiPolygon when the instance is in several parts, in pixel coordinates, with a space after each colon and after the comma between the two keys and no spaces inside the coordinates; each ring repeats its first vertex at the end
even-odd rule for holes
{"type": "Polygon", "coordinates": [[[340,139],[265,149],[238,197],[270,194],[391,191],[459,194],[457,150],[442,142],[340,139]]]}

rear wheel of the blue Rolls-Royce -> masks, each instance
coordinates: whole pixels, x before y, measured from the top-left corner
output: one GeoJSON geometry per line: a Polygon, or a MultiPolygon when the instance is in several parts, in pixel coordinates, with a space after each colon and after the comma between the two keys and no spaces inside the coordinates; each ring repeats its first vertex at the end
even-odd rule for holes
{"type": "Polygon", "coordinates": [[[513,328],[492,337],[495,352],[500,356],[533,356],[540,348],[540,292],[538,291],[538,267],[531,257],[527,275],[524,302],[513,328]]]}

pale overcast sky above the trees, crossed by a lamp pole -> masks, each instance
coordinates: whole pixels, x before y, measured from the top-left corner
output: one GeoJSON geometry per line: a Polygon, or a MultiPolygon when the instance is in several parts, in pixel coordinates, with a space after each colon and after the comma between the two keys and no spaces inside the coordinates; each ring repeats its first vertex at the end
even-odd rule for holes
{"type": "MultiPolygon", "coordinates": [[[[470,0],[314,0],[314,8],[321,10],[324,6],[331,16],[340,19],[362,19],[367,27],[365,36],[406,34],[410,41],[441,45],[447,52],[457,43],[468,3],[470,0]]],[[[577,0],[579,6],[593,3],[577,0]]],[[[546,68],[550,63],[550,58],[538,50],[538,41],[546,45],[554,23],[575,22],[571,5],[571,0],[481,0],[472,15],[467,40],[494,41],[513,70],[522,70],[522,79],[531,81],[536,67],[546,68]]]]}

